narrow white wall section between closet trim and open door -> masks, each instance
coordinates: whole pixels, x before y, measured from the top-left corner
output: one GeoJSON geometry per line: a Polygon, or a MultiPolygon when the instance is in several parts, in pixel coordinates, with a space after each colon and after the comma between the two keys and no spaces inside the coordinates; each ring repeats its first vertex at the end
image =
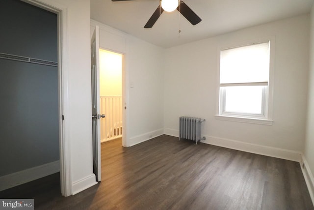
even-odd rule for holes
{"type": "Polygon", "coordinates": [[[65,141],[71,151],[72,193],[96,184],[92,164],[90,0],[41,0],[64,8],[65,141]]]}

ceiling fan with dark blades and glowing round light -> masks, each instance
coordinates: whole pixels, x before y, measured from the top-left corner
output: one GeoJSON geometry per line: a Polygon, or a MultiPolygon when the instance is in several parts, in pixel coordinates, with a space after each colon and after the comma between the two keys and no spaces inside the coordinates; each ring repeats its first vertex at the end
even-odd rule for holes
{"type": "MultiPolygon", "coordinates": [[[[125,0],[112,0],[112,1],[125,1],[125,0]]],[[[147,21],[144,26],[145,29],[152,28],[157,19],[163,11],[172,12],[178,10],[192,25],[196,25],[202,21],[202,19],[188,7],[183,0],[159,0],[159,6],[153,13],[152,17],[147,21]]]]}

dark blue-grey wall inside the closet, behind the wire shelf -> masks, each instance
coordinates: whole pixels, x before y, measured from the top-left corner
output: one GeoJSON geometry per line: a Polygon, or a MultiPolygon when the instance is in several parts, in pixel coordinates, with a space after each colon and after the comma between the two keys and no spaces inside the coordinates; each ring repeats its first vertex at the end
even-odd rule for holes
{"type": "MultiPolygon", "coordinates": [[[[0,1],[0,53],[57,61],[57,16],[0,1]]],[[[57,67],[0,59],[0,176],[59,159],[57,67]]]]}

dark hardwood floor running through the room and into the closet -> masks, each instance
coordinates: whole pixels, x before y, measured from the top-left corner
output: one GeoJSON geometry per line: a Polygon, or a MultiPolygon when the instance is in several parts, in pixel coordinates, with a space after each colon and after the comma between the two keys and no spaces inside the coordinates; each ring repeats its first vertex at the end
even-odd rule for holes
{"type": "Polygon", "coordinates": [[[102,144],[102,181],[60,195],[59,174],[0,192],[43,210],[313,210],[298,162],[162,135],[102,144]]]}

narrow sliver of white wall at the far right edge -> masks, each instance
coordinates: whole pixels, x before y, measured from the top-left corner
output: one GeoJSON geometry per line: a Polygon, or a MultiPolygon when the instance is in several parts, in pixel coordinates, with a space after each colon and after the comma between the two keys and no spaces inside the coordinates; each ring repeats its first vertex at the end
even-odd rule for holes
{"type": "Polygon", "coordinates": [[[309,192],[314,201],[314,5],[311,12],[311,36],[310,36],[310,66],[309,66],[309,94],[308,94],[308,113],[307,129],[304,145],[305,178],[309,192]]]}

